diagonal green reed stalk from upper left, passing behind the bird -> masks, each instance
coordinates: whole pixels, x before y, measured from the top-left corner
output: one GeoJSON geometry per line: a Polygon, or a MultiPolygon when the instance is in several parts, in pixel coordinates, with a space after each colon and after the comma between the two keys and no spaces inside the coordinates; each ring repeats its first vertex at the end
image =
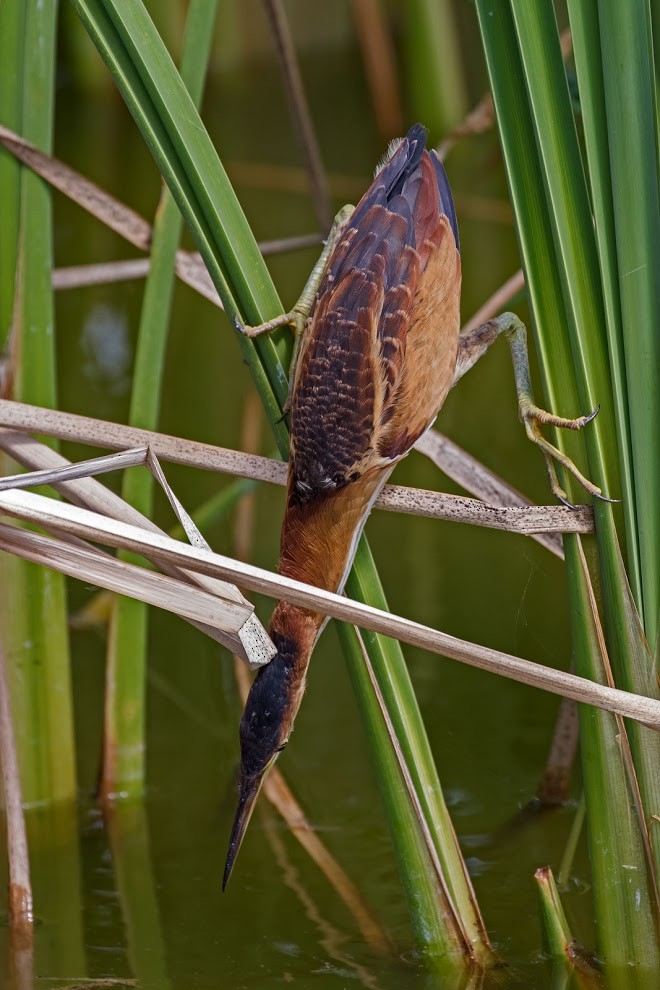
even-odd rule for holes
{"type": "MultiPolygon", "coordinates": [[[[142,4],[137,0],[124,3],[119,0],[73,2],[108,64],[188,222],[230,319],[240,310],[243,320],[256,324],[281,313],[277,293],[234,191],[142,4]]],[[[288,342],[282,339],[276,341],[271,337],[259,338],[254,344],[242,336],[239,340],[266,408],[280,453],[286,457],[288,434],[281,422],[281,407],[287,393],[287,375],[283,361],[288,358],[288,342]]],[[[364,555],[366,549],[359,553],[364,555]]],[[[376,571],[368,558],[365,558],[364,566],[370,585],[365,590],[374,592],[376,597],[382,595],[376,571]]],[[[370,600],[370,594],[365,594],[365,598],[370,600]]],[[[361,662],[357,655],[353,655],[355,662],[361,662]]],[[[380,671],[377,675],[379,679],[385,679],[387,671],[383,668],[380,652],[370,650],[369,656],[374,669],[380,671]]],[[[393,662],[397,665],[400,682],[408,682],[408,674],[400,655],[393,657],[393,662]]],[[[423,733],[412,690],[397,692],[396,685],[393,684],[392,692],[397,696],[397,705],[401,711],[408,713],[408,725],[416,726],[415,731],[423,733]],[[414,707],[414,714],[411,706],[414,707]]],[[[363,689],[360,702],[369,708],[372,725],[377,726],[380,723],[378,739],[383,753],[386,750],[391,753],[391,742],[382,725],[378,701],[370,688],[363,689]]],[[[400,720],[393,718],[393,721],[397,724],[400,720]]],[[[424,748],[421,742],[418,748],[424,748]]],[[[434,815],[427,825],[434,844],[442,845],[442,838],[436,831],[436,820],[442,817],[437,774],[432,765],[420,767],[419,773],[423,776],[425,785],[424,796],[418,796],[418,801],[422,807],[427,800],[435,805],[434,815]]],[[[394,763],[391,779],[397,780],[396,786],[401,788],[400,773],[394,763]]],[[[395,848],[402,873],[422,878],[428,874],[430,858],[424,848],[425,839],[415,804],[407,801],[405,807],[405,824],[399,819],[392,827],[395,848]]],[[[462,868],[457,867],[456,877],[461,872],[462,868]]],[[[430,955],[441,957],[455,951],[456,927],[472,931],[473,925],[471,919],[459,919],[457,922],[441,919],[437,890],[429,889],[429,886],[433,887],[422,883],[420,879],[417,887],[408,889],[408,903],[421,946],[430,955]]],[[[466,884],[466,898],[470,896],[468,888],[469,885],[466,884]]],[[[483,935],[473,945],[472,955],[481,959],[489,957],[490,949],[483,935]]],[[[466,959],[464,950],[461,949],[458,959],[450,965],[462,967],[466,959]]]]}

